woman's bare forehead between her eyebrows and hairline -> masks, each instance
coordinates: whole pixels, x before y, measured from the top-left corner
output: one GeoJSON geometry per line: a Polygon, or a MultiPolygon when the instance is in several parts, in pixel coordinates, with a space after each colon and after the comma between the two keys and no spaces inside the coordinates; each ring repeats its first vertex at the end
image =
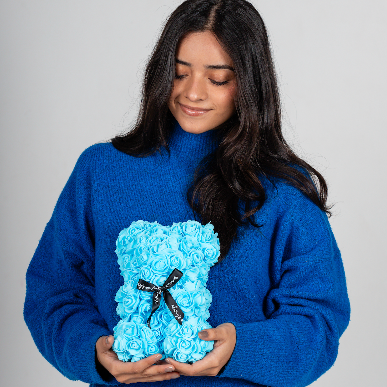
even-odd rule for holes
{"type": "Polygon", "coordinates": [[[176,58],[194,66],[229,65],[232,60],[215,36],[206,32],[194,32],[185,36],[176,50],[176,58]]]}

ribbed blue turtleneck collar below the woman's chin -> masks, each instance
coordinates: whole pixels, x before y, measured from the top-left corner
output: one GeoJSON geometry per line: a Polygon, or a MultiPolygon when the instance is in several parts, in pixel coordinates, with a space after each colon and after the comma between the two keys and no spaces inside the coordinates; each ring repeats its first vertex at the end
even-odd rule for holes
{"type": "Polygon", "coordinates": [[[219,145],[219,129],[199,134],[188,133],[176,121],[168,145],[171,152],[188,159],[204,158],[219,145]]]}

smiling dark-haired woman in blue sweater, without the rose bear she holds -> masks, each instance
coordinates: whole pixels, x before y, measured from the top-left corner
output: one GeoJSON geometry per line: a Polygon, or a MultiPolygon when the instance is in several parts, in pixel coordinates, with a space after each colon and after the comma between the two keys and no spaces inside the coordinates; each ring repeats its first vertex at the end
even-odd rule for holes
{"type": "Polygon", "coordinates": [[[24,316],[39,351],[93,386],[308,385],[349,322],[327,185],[281,134],[264,23],[245,0],[188,0],[169,17],[127,135],[79,158],[27,271],[24,316]],[[122,277],[115,241],[144,219],[211,221],[221,256],[189,365],[111,350],[122,277]]]}

